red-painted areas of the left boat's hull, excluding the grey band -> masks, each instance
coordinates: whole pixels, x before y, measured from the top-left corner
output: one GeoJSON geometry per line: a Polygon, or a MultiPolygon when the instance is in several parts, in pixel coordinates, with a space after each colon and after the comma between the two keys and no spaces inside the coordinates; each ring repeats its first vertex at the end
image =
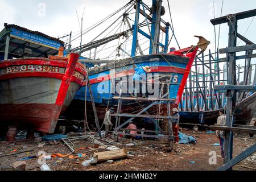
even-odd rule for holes
{"type": "MultiPolygon", "coordinates": [[[[61,81],[61,84],[60,88],[58,88],[59,90],[57,93],[57,98],[54,98],[54,100],[47,102],[51,104],[26,104],[26,102],[24,102],[24,104],[0,104],[0,121],[19,123],[22,122],[28,125],[32,125],[35,130],[43,131],[45,133],[54,133],[60,114],[63,113],[65,109],[67,109],[67,106],[64,106],[64,102],[65,98],[67,97],[68,89],[71,85],[71,82],[76,82],[80,86],[84,83],[84,78],[86,74],[85,68],[82,64],[77,63],[78,60],[79,55],[76,53],[71,53],[69,55],[69,58],[50,56],[49,59],[28,58],[1,61],[0,69],[6,69],[6,73],[0,76],[0,81],[7,81],[12,78],[22,77],[46,77],[56,78],[61,81]],[[27,69],[26,67],[23,67],[23,65],[31,65],[31,67],[33,67],[34,69],[27,69]],[[51,69],[44,70],[42,69],[42,66],[40,66],[40,70],[36,70],[34,65],[48,65],[51,67],[65,68],[65,72],[53,72],[53,70],[51,69]],[[18,66],[20,66],[20,68],[18,66]]],[[[29,90],[31,88],[28,87],[26,89],[27,92],[30,93],[29,90]]],[[[19,89],[17,90],[19,92],[19,89]]]]}

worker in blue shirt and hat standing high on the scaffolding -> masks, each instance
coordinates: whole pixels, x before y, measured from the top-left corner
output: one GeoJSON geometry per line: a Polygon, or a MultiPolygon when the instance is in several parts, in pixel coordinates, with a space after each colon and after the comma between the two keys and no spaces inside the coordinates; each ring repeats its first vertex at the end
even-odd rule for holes
{"type": "Polygon", "coordinates": [[[139,94],[139,87],[140,83],[142,83],[142,97],[146,98],[146,73],[150,73],[151,69],[150,67],[141,67],[141,68],[135,68],[134,69],[134,76],[133,76],[133,81],[134,81],[134,97],[138,97],[139,94]]]}

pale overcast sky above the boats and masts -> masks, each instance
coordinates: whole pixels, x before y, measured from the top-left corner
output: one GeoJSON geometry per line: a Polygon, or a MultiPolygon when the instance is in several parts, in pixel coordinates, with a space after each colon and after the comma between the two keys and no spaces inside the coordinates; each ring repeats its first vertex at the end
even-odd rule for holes
{"type": "MultiPolygon", "coordinates": [[[[73,35],[79,32],[79,23],[77,20],[76,9],[79,17],[84,13],[84,29],[92,26],[94,23],[113,13],[119,7],[125,5],[129,0],[0,0],[0,27],[3,23],[17,24],[30,30],[44,32],[50,36],[58,37],[73,32],[73,35]],[[45,14],[44,14],[44,6],[45,14]]],[[[144,3],[151,4],[150,0],[144,0],[144,3]]],[[[220,16],[222,0],[214,0],[216,17],[220,16]]],[[[213,1],[210,0],[170,0],[172,19],[174,22],[175,35],[180,43],[181,48],[195,45],[197,39],[193,35],[201,35],[210,40],[209,46],[214,50],[214,27],[210,23],[213,18],[213,1]]],[[[167,0],[163,0],[163,6],[166,7],[166,15],[162,18],[170,22],[168,13],[167,0]]],[[[255,0],[224,0],[222,15],[238,13],[241,11],[256,8],[255,0]]],[[[134,14],[129,15],[134,19],[134,14]]],[[[111,22],[110,22],[111,23],[111,22]]],[[[132,23],[132,22],[131,22],[132,23]]],[[[107,23],[108,24],[108,23],[107,23]]],[[[86,34],[83,43],[92,40],[96,36],[95,30],[86,34]]],[[[240,20],[238,23],[238,32],[245,35],[246,38],[256,42],[256,18],[240,20]],[[253,21],[252,21],[253,20],[253,21]],[[251,23],[251,25],[250,25],[251,23]],[[249,27],[250,25],[250,27],[249,27]],[[249,29],[247,30],[247,28],[249,29]],[[247,30],[247,31],[246,31],[247,30]]],[[[216,26],[218,35],[218,26],[216,26]]],[[[64,39],[64,41],[66,41],[64,39]]],[[[238,42],[240,40],[238,39],[238,42]]],[[[80,40],[72,43],[73,47],[79,46],[80,40]]],[[[243,43],[240,43],[242,46],[243,43]]],[[[172,47],[177,47],[175,42],[171,43],[172,47]]],[[[221,25],[220,48],[228,46],[228,26],[221,25]]],[[[255,64],[255,60],[253,60],[255,64]]]]}

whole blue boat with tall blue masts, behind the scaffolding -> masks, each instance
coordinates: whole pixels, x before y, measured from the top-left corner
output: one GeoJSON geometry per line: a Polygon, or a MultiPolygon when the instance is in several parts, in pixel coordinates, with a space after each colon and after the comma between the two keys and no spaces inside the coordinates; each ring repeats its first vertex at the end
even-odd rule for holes
{"type": "MultiPolygon", "coordinates": [[[[114,107],[117,111],[119,92],[122,92],[122,97],[128,97],[127,100],[122,101],[122,112],[123,113],[137,113],[142,110],[144,106],[151,104],[154,100],[160,98],[164,93],[168,93],[168,101],[171,100],[171,107],[178,107],[181,97],[183,95],[183,90],[187,82],[189,72],[199,48],[201,52],[204,52],[209,42],[201,36],[196,36],[200,39],[197,46],[192,46],[184,49],[177,50],[172,48],[168,53],[168,43],[170,41],[169,32],[172,29],[170,23],[164,22],[161,19],[161,16],[164,15],[164,7],[159,1],[152,1],[152,9],[141,1],[130,1],[125,7],[127,7],[126,12],[122,13],[122,22],[130,25],[129,17],[127,12],[131,9],[135,9],[135,20],[133,26],[129,26],[129,30],[119,32],[118,34],[104,37],[103,39],[96,40],[93,39],[92,42],[85,44],[83,46],[72,49],[72,51],[84,53],[90,51],[92,48],[100,47],[106,43],[113,42],[114,40],[120,39],[129,39],[129,34],[133,34],[133,42],[131,45],[131,53],[125,51],[124,43],[117,48],[117,55],[120,55],[119,51],[124,52],[127,56],[126,59],[119,60],[106,60],[105,65],[101,65],[96,68],[88,69],[88,80],[92,87],[92,93],[89,92],[88,87],[82,87],[76,94],[76,97],[73,101],[72,106],[77,107],[77,109],[72,110],[70,113],[72,118],[80,114],[80,118],[84,119],[84,109],[87,111],[87,116],[92,117],[88,121],[94,121],[93,113],[93,101],[96,105],[97,117],[100,122],[103,121],[105,117],[106,110],[110,107],[114,107]],[[136,8],[135,8],[136,6],[136,8]],[[143,10],[140,10],[140,7],[143,10]],[[146,15],[148,14],[152,15],[146,15]],[[139,14],[142,14],[146,18],[147,25],[142,29],[143,26],[139,23],[139,14]],[[149,23],[151,23],[151,30],[149,23]],[[162,23],[164,24],[162,26],[162,23]],[[146,33],[145,31],[149,31],[146,33]],[[159,35],[160,31],[166,35],[164,43],[160,42],[159,35]],[[143,54],[143,51],[140,51],[141,55],[138,55],[137,49],[141,49],[138,43],[138,34],[143,35],[148,39],[149,42],[149,53],[147,55],[143,54]],[[161,51],[162,50],[162,51],[161,51]],[[133,76],[135,74],[135,68],[149,67],[151,69],[150,73],[147,73],[147,98],[144,98],[144,101],[138,100],[129,100],[134,97],[133,94],[133,76]],[[165,86],[163,86],[165,84],[165,86]],[[122,85],[122,86],[121,86],[122,85]],[[149,85],[149,86],[148,86],[149,85]],[[168,85],[168,88],[167,88],[168,85]],[[120,86],[122,89],[120,89],[120,86]],[[163,86],[163,89],[162,89],[163,86]],[[150,93],[154,88],[154,93],[150,93]],[[124,90],[125,92],[124,92],[124,90]],[[156,90],[155,90],[156,89],[156,90]],[[85,95],[86,94],[86,95],[85,95]],[[86,105],[85,105],[86,104],[86,105]],[[85,107],[86,106],[86,107],[85,107]]],[[[101,36],[101,35],[99,35],[101,36]]],[[[175,35],[173,35],[175,37],[175,35]]],[[[176,37],[175,37],[176,39],[176,37]]],[[[121,40],[119,40],[120,42],[121,40]]],[[[119,43],[118,43],[119,44],[119,43]]],[[[190,44],[191,45],[191,44],[190,44]]],[[[94,55],[97,53],[95,52],[94,55]]],[[[90,53],[89,53],[90,55],[90,53]]],[[[90,56],[91,57],[91,56],[90,56]]],[[[87,63],[100,63],[104,64],[105,60],[87,60],[87,63]],[[90,62],[91,61],[91,62],[90,62]]],[[[139,90],[142,90],[142,85],[139,86],[139,90]]],[[[141,96],[139,96],[141,97],[141,96]]],[[[161,112],[166,112],[166,102],[158,102],[154,107],[148,109],[148,112],[156,114],[158,105],[161,105],[161,112]]],[[[73,109],[73,107],[72,107],[73,109]]],[[[166,113],[164,113],[166,115],[166,113]]]]}

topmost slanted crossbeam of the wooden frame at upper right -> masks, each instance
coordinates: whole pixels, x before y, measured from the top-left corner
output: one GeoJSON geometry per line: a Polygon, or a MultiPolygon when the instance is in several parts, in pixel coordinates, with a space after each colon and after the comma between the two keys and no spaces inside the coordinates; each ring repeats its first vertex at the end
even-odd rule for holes
{"type": "MultiPolygon", "coordinates": [[[[239,19],[245,19],[245,18],[250,18],[252,16],[256,16],[256,9],[254,10],[249,10],[249,11],[243,11],[241,13],[237,13],[235,14],[236,15],[236,19],[239,20],[239,19]]],[[[213,25],[216,25],[216,24],[222,24],[222,23],[227,23],[228,22],[228,19],[226,16],[222,16],[220,18],[215,18],[215,19],[212,19],[210,20],[210,22],[213,24],[213,25]]]]}

